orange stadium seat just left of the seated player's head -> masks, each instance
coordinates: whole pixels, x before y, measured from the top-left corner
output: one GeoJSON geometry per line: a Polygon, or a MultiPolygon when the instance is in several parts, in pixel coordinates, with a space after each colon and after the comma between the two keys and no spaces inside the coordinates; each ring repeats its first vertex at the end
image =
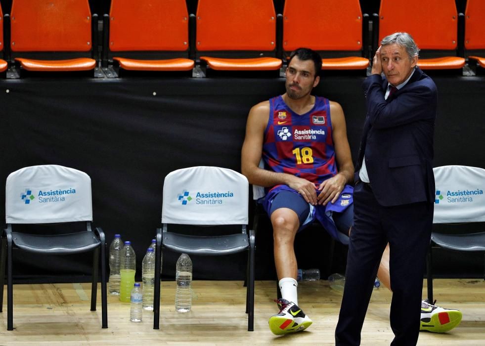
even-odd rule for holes
{"type": "Polygon", "coordinates": [[[196,49],[216,71],[279,71],[272,0],[199,0],[196,49]]]}

